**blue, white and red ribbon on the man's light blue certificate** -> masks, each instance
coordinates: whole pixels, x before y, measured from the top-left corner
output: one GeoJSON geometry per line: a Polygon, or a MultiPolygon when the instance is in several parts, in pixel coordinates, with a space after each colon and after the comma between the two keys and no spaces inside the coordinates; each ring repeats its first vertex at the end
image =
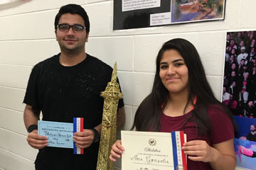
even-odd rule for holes
{"type": "MultiPolygon", "coordinates": [[[[83,131],[83,118],[73,118],[73,132],[83,131]]],[[[83,148],[76,147],[74,142],[74,154],[83,154],[83,148]]]]}

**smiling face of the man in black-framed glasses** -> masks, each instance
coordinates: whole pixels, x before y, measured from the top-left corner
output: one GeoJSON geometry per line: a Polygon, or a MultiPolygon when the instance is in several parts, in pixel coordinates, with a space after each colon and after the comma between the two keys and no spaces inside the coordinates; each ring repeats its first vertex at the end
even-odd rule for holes
{"type": "MultiPolygon", "coordinates": [[[[85,26],[85,22],[78,14],[65,13],[60,16],[58,24],[68,24],[73,26],[75,24],[85,26]]],[[[81,52],[85,50],[85,42],[88,40],[88,34],[83,29],[80,33],[75,33],[73,28],[70,28],[68,32],[60,31],[59,28],[55,30],[56,40],[60,45],[60,50],[63,52],[81,52]]]]}

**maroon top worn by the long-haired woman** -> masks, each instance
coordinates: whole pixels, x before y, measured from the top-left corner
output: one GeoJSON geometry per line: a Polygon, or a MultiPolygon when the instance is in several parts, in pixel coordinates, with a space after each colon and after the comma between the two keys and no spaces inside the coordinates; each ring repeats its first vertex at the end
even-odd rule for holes
{"type": "MultiPolygon", "coordinates": [[[[160,132],[172,132],[183,130],[183,123],[191,115],[191,111],[186,115],[177,117],[170,117],[164,113],[161,115],[161,129],[160,132]]],[[[231,140],[235,137],[233,123],[231,122],[228,114],[224,113],[223,109],[208,108],[208,115],[212,123],[212,134],[207,132],[204,136],[196,135],[196,124],[193,121],[186,123],[184,133],[186,134],[187,141],[191,140],[205,140],[211,147],[214,144],[231,140]]],[[[199,133],[199,132],[198,132],[199,133]]],[[[206,162],[193,162],[188,160],[188,170],[198,169],[212,169],[209,163],[206,162]]]]}

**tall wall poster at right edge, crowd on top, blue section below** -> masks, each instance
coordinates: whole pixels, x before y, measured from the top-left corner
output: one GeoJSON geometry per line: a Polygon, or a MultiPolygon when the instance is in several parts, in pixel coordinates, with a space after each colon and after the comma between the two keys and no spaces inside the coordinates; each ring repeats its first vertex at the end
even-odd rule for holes
{"type": "Polygon", "coordinates": [[[256,31],[227,33],[222,102],[238,124],[237,166],[256,169],[256,31]]]}

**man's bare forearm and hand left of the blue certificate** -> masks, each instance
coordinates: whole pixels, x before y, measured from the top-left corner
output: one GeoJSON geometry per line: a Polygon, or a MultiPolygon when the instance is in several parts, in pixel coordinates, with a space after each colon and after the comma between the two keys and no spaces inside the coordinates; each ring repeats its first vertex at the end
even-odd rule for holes
{"type": "MultiPolygon", "coordinates": [[[[39,115],[40,111],[35,111],[32,106],[26,105],[23,115],[26,129],[28,129],[30,125],[38,124],[39,115]]],[[[41,149],[48,145],[47,137],[38,135],[38,130],[30,132],[28,134],[27,141],[28,145],[31,145],[31,147],[35,149],[41,149]]]]}

